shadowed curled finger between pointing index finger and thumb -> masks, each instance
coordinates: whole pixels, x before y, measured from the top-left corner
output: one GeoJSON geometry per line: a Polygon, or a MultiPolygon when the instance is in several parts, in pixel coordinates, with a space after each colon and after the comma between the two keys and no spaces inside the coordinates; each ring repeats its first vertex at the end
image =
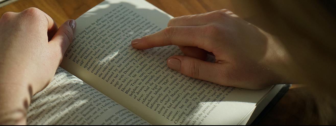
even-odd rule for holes
{"type": "Polygon", "coordinates": [[[208,51],[205,51],[203,49],[200,49],[197,47],[191,47],[191,46],[179,46],[179,48],[186,56],[194,57],[200,60],[207,59],[208,51]]]}

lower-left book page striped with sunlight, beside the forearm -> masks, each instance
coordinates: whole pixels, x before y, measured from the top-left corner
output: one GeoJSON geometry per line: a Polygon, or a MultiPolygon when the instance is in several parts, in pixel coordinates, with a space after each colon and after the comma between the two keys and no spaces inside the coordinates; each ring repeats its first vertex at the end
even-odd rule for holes
{"type": "Polygon", "coordinates": [[[60,67],[28,110],[28,125],[149,125],[60,67]]]}

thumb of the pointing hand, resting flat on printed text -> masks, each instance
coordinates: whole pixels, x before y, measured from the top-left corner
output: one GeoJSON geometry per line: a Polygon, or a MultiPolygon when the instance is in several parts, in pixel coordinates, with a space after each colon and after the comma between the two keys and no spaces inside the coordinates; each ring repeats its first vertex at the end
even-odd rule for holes
{"type": "Polygon", "coordinates": [[[167,66],[180,73],[210,82],[220,82],[220,64],[203,61],[189,56],[171,56],[167,66]]]}

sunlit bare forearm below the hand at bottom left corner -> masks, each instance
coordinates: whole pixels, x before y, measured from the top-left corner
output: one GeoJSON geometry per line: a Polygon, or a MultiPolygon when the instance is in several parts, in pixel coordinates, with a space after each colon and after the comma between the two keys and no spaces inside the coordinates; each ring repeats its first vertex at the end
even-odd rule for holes
{"type": "Polygon", "coordinates": [[[26,125],[32,89],[28,85],[0,83],[0,125],[26,125]]]}

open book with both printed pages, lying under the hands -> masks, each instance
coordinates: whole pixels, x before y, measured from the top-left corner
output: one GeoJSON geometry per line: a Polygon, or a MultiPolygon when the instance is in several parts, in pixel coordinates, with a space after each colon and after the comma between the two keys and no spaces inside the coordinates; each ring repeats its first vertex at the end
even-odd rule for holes
{"type": "Polygon", "coordinates": [[[250,124],[283,85],[221,86],[168,68],[177,46],[131,46],[171,18],[144,0],[107,0],[81,15],[61,67],[32,98],[28,124],[250,124]]]}

